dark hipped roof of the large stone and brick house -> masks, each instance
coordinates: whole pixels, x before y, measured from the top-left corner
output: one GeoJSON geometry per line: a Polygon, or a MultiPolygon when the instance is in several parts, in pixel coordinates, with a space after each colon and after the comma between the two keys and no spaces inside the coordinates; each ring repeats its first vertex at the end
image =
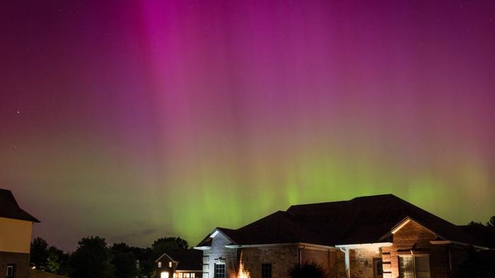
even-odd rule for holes
{"type": "MultiPolygon", "coordinates": [[[[390,241],[392,228],[407,218],[436,233],[438,239],[479,245],[460,226],[390,194],[294,205],[285,212],[275,212],[235,230],[217,230],[231,238],[234,245],[311,243],[335,246],[390,241]]],[[[206,241],[199,243],[207,244],[206,241]]]]}

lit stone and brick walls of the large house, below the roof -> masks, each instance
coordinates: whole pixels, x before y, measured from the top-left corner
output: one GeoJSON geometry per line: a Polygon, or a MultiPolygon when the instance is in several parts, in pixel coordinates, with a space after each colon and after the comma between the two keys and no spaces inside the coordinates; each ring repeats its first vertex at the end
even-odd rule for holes
{"type": "MultiPolygon", "coordinates": [[[[427,255],[431,278],[448,278],[466,257],[459,246],[432,244],[438,236],[415,221],[409,221],[392,235],[392,245],[350,248],[350,278],[399,278],[400,255],[427,255]],[[383,262],[383,276],[375,273],[375,263],[383,262]],[[376,274],[376,276],[375,276],[376,274]]],[[[339,248],[315,247],[305,243],[265,245],[250,248],[226,248],[232,244],[218,233],[211,248],[204,250],[203,278],[214,278],[214,264],[226,264],[226,278],[262,278],[263,263],[272,264],[272,278],[288,278],[289,270],[299,262],[316,262],[329,278],[347,278],[345,253],[339,248]]]]}

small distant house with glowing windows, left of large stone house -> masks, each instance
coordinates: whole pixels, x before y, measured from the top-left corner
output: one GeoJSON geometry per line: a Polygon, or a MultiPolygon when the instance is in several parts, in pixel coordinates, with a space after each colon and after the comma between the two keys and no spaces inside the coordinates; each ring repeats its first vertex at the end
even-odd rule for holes
{"type": "Polygon", "coordinates": [[[203,253],[199,250],[173,250],[155,262],[158,278],[202,278],[203,253]]]}

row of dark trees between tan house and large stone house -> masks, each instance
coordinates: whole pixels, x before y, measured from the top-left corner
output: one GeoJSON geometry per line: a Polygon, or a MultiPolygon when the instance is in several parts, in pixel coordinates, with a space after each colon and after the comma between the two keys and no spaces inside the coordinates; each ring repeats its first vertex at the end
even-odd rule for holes
{"type": "Polygon", "coordinates": [[[71,278],[144,278],[154,276],[154,262],[163,253],[187,248],[180,237],[158,238],[151,247],[139,248],[108,245],[105,238],[88,236],[78,241],[74,252],[66,253],[38,237],[31,243],[30,262],[36,270],[71,278]]]}

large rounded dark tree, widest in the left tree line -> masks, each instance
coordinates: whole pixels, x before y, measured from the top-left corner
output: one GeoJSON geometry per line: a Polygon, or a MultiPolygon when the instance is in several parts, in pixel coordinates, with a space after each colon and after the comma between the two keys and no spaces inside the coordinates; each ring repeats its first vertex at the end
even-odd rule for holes
{"type": "Polygon", "coordinates": [[[70,258],[72,278],[113,278],[114,266],[105,238],[81,238],[70,258]]]}

